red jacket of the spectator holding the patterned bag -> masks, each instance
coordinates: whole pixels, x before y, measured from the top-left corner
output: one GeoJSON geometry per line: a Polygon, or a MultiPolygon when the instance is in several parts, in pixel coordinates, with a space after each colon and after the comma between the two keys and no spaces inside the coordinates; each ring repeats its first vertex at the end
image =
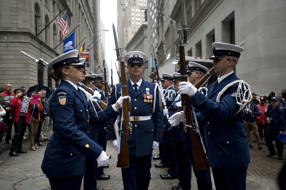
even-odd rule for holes
{"type": "MultiPolygon", "coordinates": [[[[21,100],[18,97],[12,98],[10,100],[10,107],[12,110],[12,113],[14,114],[12,121],[13,122],[18,122],[19,121],[19,117],[20,117],[20,111],[21,111],[21,100]]],[[[29,102],[29,107],[28,109],[32,109],[32,102],[29,102]]],[[[28,111],[26,113],[26,122],[29,123],[30,122],[30,117],[31,117],[31,113],[28,111]]]]}

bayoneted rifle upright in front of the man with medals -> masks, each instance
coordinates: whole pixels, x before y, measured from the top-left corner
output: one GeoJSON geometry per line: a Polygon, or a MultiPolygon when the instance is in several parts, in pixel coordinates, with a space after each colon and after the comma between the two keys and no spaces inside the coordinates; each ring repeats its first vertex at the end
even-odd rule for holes
{"type": "MultiPolygon", "coordinates": [[[[117,61],[120,62],[120,69],[121,69],[121,74],[122,74],[122,85],[121,85],[121,90],[122,90],[122,96],[128,96],[128,87],[127,87],[127,81],[126,81],[126,72],[125,72],[125,63],[123,60],[122,56],[122,47],[118,48],[118,43],[117,43],[117,37],[116,37],[116,31],[114,24],[113,26],[113,35],[114,35],[114,42],[115,42],[115,48],[116,50],[116,55],[117,55],[117,61]],[[119,52],[120,50],[120,52],[119,52]],[[121,55],[120,55],[121,54],[121,55]]],[[[129,167],[129,147],[128,147],[128,138],[129,134],[132,134],[132,124],[130,121],[130,102],[129,99],[125,99],[123,101],[123,118],[124,118],[124,137],[123,137],[123,142],[122,146],[120,149],[120,153],[118,155],[118,161],[117,161],[117,167],[129,167]]],[[[122,122],[122,121],[121,121],[122,122]]]]}

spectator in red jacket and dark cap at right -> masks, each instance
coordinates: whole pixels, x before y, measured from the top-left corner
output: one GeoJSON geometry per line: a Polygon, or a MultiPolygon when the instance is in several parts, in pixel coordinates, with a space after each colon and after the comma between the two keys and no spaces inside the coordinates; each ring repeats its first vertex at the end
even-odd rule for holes
{"type": "Polygon", "coordinates": [[[257,104],[260,115],[256,116],[256,123],[258,126],[260,140],[262,140],[263,137],[266,137],[266,131],[267,131],[267,126],[268,126],[267,121],[266,121],[266,112],[268,109],[268,105],[265,103],[266,101],[267,101],[267,98],[261,97],[260,103],[257,104]]]}

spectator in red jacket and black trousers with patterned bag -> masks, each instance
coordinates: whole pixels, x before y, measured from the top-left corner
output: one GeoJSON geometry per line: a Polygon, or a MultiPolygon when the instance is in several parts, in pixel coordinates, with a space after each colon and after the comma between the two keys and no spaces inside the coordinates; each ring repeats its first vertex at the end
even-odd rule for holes
{"type": "Polygon", "coordinates": [[[14,122],[15,135],[12,139],[10,156],[19,156],[18,153],[27,153],[23,150],[23,136],[26,131],[27,123],[30,122],[31,113],[29,110],[32,108],[30,98],[23,93],[24,89],[15,89],[15,97],[11,99],[10,106],[13,114],[12,121],[14,122]]]}

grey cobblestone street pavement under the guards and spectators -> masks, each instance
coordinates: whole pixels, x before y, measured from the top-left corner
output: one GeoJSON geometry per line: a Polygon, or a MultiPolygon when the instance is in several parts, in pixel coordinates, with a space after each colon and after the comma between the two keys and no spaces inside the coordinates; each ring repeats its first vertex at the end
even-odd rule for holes
{"type": "MultiPolygon", "coordinates": [[[[49,127],[49,130],[49,135],[51,136],[51,127],[49,127]]],[[[1,189],[50,189],[47,178],[44,177],[45,174],[43,174],[41,171],[41,162],[46,146],[40,147],[36,151],[32,151],[29,149],[29,142],[27,140],[24,140],[24,142],[26,142],[23,143],[23,149],[27,150],[28,153],[20,154],[18,157],[9,156],[9,147],[6,147],[4,145],[6,151],[1,151],[0,154],[0,160],[5,161],[5,163],[0,165],[1,189]]],[[[46,145],[47,143],[47,141],[44,142],[44,144],[46,145]]],[[[1,147],[3,147],[3,145],[1,145],[1,147]]],[[[277,176],[283,164],[285,163],[285,150],[283,160],[278,160],[277,156],[266,157],[266,155],[268,154],[266,145],[264,145],[264,149],[264,152],[259,151],[256,146],[256,143],[254,143],[253,149],[249,150],[251,156],[251,163],[249,164],[247,171],[247,189],[279,190],[280,188],[277,185],[277,176]]],[[[109,141],[107,143],[106,153],[110,154],[112,157],[111,159],[109,159],[110,167],[104,169],[104,172],[110,174],[111,178],[105,181],[98,180],[98,187],[103,188],[104,190],[123,189],[121,169],[116,167],[117,153],[112,148],[112,145],[109,141]]],[[[153,155],[157,154],[158,149],[153,151],[153,155]]],[[[161,173],[166,173],[168,168],[154,167],[154,164],[159,161],[160,160],[152,160],[152,178],[150,181],[149,189],[171,189],[172,186],[178,184],[178,179],[161,179],[159,175],[161,173]]],[[[81,189],[83,189],[83,184],[81,189]]],[[[197,189],[196,178],[194,175],[192,175],[191,189],[197,189]]],[[[213,189],[215,189],[214,183],[213,189]]]]}

